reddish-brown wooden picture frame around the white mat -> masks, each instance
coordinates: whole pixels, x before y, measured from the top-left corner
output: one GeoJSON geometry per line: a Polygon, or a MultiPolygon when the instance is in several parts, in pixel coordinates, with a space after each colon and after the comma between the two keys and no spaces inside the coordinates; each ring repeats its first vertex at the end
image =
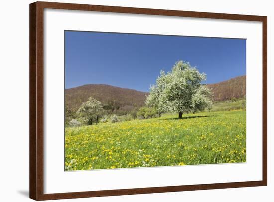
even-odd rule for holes
{"type": "Polygon", "coordinates": [[[131,195],[161,192],[177,192],[191,190],[207,190],[207,189],[223,189],[238,188],[251,186],[267,185],[267,17],[223,14],[223,13],[207,13],[207,12],[191,12],[177,10],[160,10],[147,8],[132,7],[116,7],[101,5],[85,5],[85,4],[69,4],[54,2],[35,2],[30,4],[30,198],[34,200],[53,200],[53,199],[70,199],[84,197],[99,196],[115,196],[115,195],[131,195]],[[146,14],[146,15],[162,15],[162,16],[181,16],[192,18],[210,18],[210,19],[226,19],[226,20],[245,20],[258,21],[263,23],[263,162],[262,162],[262,180],[248,182],[232,182],[232,183],[214,183],[199,185],[182,185],[168,187],[149,187],[137,189],[120,189],[120,190],[98,190],[88,192],[70,192],[70,193],[54,193],[44,194],[44,97],[43,97],[43,62],[44,62],[44,9],[64,9],[64,10],[82,10],[82,11],[98,11],[98,12],[115,12],[130,14],[146,14]]]}

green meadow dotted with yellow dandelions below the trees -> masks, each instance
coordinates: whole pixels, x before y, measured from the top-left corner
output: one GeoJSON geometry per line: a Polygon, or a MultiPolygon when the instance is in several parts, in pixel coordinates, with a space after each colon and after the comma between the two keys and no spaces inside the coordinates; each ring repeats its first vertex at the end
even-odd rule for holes
{"type": "Polygon", "coordinates": [[[246,161],[246,113],[177,114],[65,129],[65,170],[246,161]]]}

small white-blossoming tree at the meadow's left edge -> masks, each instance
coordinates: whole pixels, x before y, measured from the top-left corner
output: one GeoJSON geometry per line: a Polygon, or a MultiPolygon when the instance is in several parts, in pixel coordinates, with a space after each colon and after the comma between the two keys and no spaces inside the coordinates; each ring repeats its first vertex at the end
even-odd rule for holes
{"type": "Polygon", "coordinates": [[[77,113],[80,116],[87,118],[89,125],[92,125],[94,119],[97,125],[100,116],[103,114],[103,111],[104,109],[101,102],[92,97],[89,97],[88,101],[81,104],[77,113]]]}

